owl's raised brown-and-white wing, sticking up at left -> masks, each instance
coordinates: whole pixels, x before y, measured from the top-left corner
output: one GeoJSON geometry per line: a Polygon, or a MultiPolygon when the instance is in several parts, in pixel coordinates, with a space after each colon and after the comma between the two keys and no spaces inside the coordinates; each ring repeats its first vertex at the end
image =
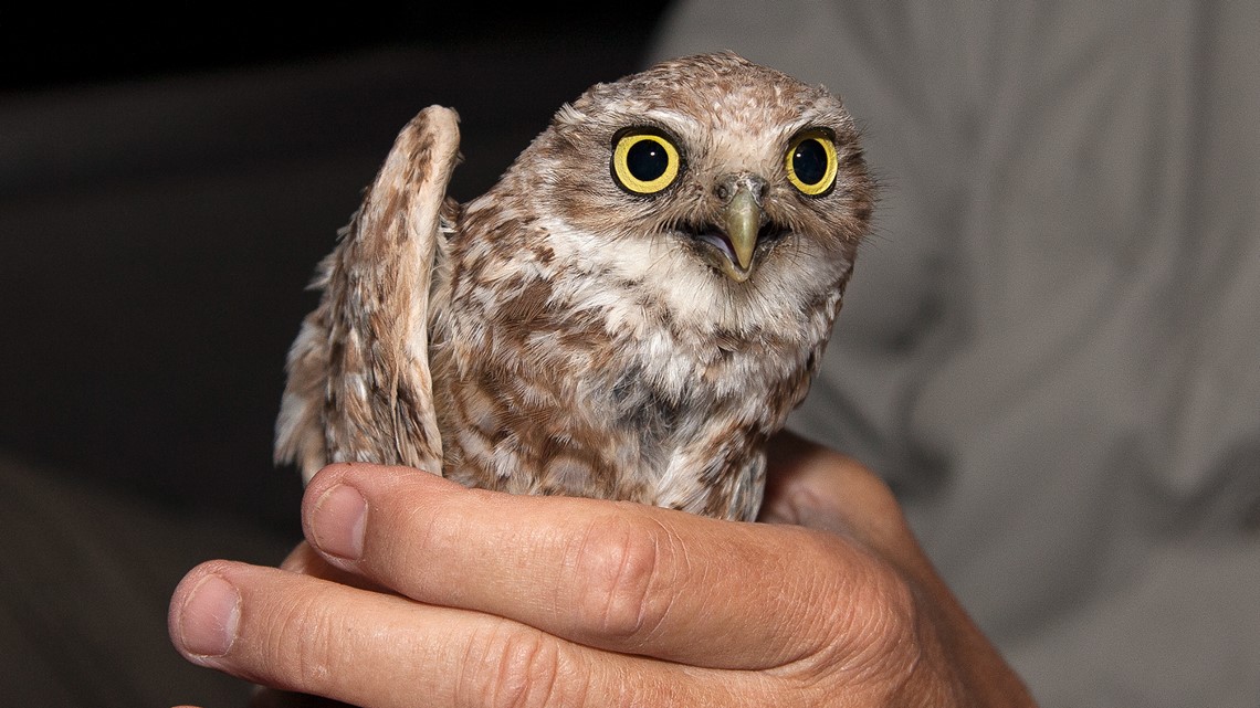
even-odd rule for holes
{"type": "Polygon", "coordinates": [[[398,134],[363,205],[324,260],[319,307],[289,353],[276,461],[302,479],[331,461],[441,472],[428,368],[432,277],[457,205],[455,111],[430,106],[398,134]]]}

